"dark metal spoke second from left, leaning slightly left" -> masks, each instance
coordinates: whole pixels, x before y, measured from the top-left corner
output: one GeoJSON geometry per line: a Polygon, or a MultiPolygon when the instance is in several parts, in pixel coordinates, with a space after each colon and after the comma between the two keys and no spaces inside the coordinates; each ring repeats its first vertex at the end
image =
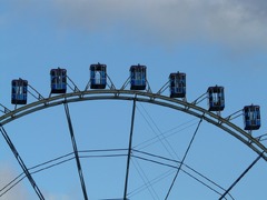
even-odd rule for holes
{"type": "Polygon", "coordinates": [[[70,131],[72,147],[73,147],[73,151],[75,151],[78,173],[79,173],[79,177],[80,177],[82,193],[83,193],[85,200],[88,200],[87,190],[86,190],[86,182],[85,182],[83,174],[82,174],[82,169],[81,169],[81,164],[80,164],[78,148],[77,148],[76,139],[75,139],[75,131],[73,131],[73,127],[72,127],[72,123],[71,123],[71,118],[70,118],[68,103],[65,103],[65,111],[66,111],[66,116],[67,116],[67,120],[68,120],[68,124],[69,124],[69,131],[70,131]]]}

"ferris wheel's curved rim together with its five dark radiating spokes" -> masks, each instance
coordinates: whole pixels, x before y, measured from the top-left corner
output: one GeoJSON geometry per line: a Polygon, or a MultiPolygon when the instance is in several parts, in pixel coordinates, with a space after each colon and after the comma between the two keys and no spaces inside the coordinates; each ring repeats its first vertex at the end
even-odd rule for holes
{"type": "MultiPolygon", "coordinates": [[[[244,144],[246,144],[248,148],[250,148],[253,151],[255,151],[258,154],[258,158],[255,160],[255,162],[251,163],[251,166],[249,166],[249,168],[244,172],[244,174],[240,176],[240,178],[243,176],[245,176],[245,173],[259,159],[264,159],[265,161],[267,161],[267,147],[261,142],[260,138],[253,137],[253,134],[249,131],[243,130],[241,128],[239,128],[238,126],[233,123],[231,122],[231,119],[234,118],[233,116],[222,118],[221,114],[219,114],[219,113],[211,112],[208,109],[199,107],[198,102],[200,101],[200,99],[202,97],[200,97],[199,99],[197,99],[194,102],[188,102],[184,98],[184,96],[182,96],[184,99],[178,99],[178,98],[175,99],[175,98],[164,96],[161,92],[162,89],[160,89],[159,92],[154,93],[154,92],[151,92],[150,89],[148,89],[147,91],[128,90],[128,89],[126,89],[126,86],[127,86],[127,83],[125,83],[121,89],[116,89],[113,83],[111,82],[111,87],[109,89],[103,89],[105,87],[101,87],[102,89],[88,90],[89,87],[87,87],[86,90],[83,90],[83,91],[79,90],[75,86],[73,87],[75,89],[69,93],[59,93],[57,96],[50,94],[48,98],[43,98],[42,96],[40,96],[38,93],[38,96],[41,98],[38,98],[38,100],[36,102],[31,102],[29,104],[26,104],[26,106],[22,106],[19,108],[17,108],[17,106],[16,106],[14,110],[9,110],[4,106],[1,104],[1,107],[3,108],[3,110],[2,110],[3,114],[0,117],[0,127],[1,127],[0,131],[2,132],[6,141],[8,142],[9,147],[11,148],[14,157],[19,161],[21,168],[23,169],[26,177],[31,182],[31,186],[33,187],[39,199],[44,199],[44,197],[41,193],[40,189],[37,187],[37,183],[34,182],[33,178],[31,177],[31,173],[29,172],[28,168],[24,166],[22,159],[19,156],[18,150],[12,144],[12,141],[10,140],[8,132],[6,131],[4,126],[8,123],[11,123],[12,121],[14,121],[17,119],[23,118],[24,116],[31,114],[33,112],[38,112],[40,110],[57,107],[60,104],[65,106],[66,116],[67,116],[69,130],[70,130],[70,137],[71,137],[71,141],[72,141],[72,147],[73,147],[73,154],[75,154],[75,158],[77,161],[77,169],[78,169],[78,173],[79,173],[79,178],[80,178],[80,182],[81,182],[82,193],[83,193],[85,200],[87,200],[90,198],[90,194],[87,193],[86,182],[83,180],[83,174],[82,174],[82,168],[81,168],[80,160],[79,160],[79,150],[76,144],[75,132],[73,132],[72,123],[71,123],[71,116],[70,116],[70,111],[68,109],[68,104],[73,103],[73,102],[95,101],[95,100],[116,100],[116,101],[122,100],[122,101],[131,101],[134,103],[132,104],[132,117],[131,117],[131,129],[130,129],[130,137],[129,137],[130,138],[129,139],[129,148],[127,149],[128,153],[127,153],[126,181],[125,181],[125,190],[123,190],[125,192],[123,192],[123,198],[121,198],[123,200],[126,200],[128,198],[127,189],[128,189],[129,166],[130,166],[130,159],[132,157],[132,151],[135,151],[135,149],[132,149],[132,146],[131,146],[131,138],[134,134],[135,111],[136,111],[137,102],[157,104],[160,107],[165,107],[165,108],[169,108],[169,109],[177,110],[180,112],[185,112],[186,114],[194,116],[200,120],[199,124],[201,123],[202,120],[207,121],[208,123],[211,123],[212,126],[218,127],[219,129],[231,134],[237,140],[243,142],[244,144]]],[[[142,89],[145,89],[145,88],[142,88],[142,89]]],[[[198,130],[198,128],[196,129],[196,132],[197,132],[197,130],[198,130]]],[[[195,134],[196,134],[196,132],[195,132],[195,134]]],[[[190,146],[194,141],[195,134],[188,146],[188,149],[187,149],[184,158],[179,162],[180,164],[178,164],[178,167],[177,167],[177,173],[174,178],[171,187],[169,188],[169,191],[166,194],[165,199],[168,199],[168,194],[169,194],[169,192],[171,192],[171,189],[176,181],[176,178],[177,178],[178,173],[180,172],[182,164],[185,164],[184,162],[187,157],[187,152],[189,151],[190,146]]],[[[240,180],[240,178],[237,179],[237,181],[234,182],[233,186],[228,190],[225,190],[225,193],[221,193],[220,199],[224,199],[225,196],[229,194],[230,189],[240,180]]]]}

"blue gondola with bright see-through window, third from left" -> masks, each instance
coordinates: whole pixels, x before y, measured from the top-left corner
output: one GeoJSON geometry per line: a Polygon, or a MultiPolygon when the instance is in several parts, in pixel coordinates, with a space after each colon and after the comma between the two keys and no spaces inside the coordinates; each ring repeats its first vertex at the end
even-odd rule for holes
{"type": "Polygon", "coordinates": [[[90,81],[91,89],[105,89],[107,84],[107,66],[100,63],[91,64],[90,81]]]}

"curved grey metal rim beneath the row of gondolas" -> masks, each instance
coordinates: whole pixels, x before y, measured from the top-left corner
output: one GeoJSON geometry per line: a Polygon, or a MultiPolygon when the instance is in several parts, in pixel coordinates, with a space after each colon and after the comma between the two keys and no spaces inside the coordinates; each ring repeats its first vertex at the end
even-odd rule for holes
{"type": "Polygon", "coordinates": [[[195,116],[197,118],[202,118],[209,123],[217,126],[218,128],[225,130],[230,133],[243,143],[253,149],[256,153],[261,154],[267,161],[267,147],[265,147],[257,138],[254,138],[251,134],[244,131],[241,128],[231,123],[229,120],[221,118],[220,116],[210,112],[201,107],[196,104],[181,101],[179,99],[172,99],[166,96],[161,96],[158,93],[150,93],[144,91],[135,91],[135,90],[87,90],[87,91],[77,91],[71,93],[65,93],[60,96],[53,96],[50,98],[46,98],[30,104],[20,107],[14,109],[3,116],[0,117],[0,123],[3,126],[9,123],[16,119],[19,119],[23,116],[30,114],[32,112],[59,106],[62,103],[71,103],[78,101],[89,101],[89,100],[134,100],[140,102],[147,102],[152,104],[158,104],[162,107],[167,107],[170,109],[179,110],[186,112],[188,114],[195,116]],[[263,153],[264,152],[264,153],[263,153]]]}

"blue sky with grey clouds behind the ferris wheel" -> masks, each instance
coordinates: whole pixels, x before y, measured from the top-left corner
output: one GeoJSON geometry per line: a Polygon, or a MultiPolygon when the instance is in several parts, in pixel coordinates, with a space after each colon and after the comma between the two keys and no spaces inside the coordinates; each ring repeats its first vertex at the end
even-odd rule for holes
{"type": "MultiPolygon", "coordinates": [[[[50,69],[67,69],[82,90],[89,81],[89,66],[100,62],[107,64],[118,89],[129,77],[130,66],[140,63],[147,66],[152,92],[168,81],[169,73],[187,73],[188,102],[210,86],[224,86],[222,117],[244,106],[259,104],[261,128],[253,132],[258,137],[267,130],[263,89],[267,84],[266,23],[265,0],[0,0],[0,103],[14,109],[10,103],[12,79],[26,79],[48,97],[50,69]]],[[[169,96],[168,89],[164,94],[169,96]]],[[[28,102],[34,101],[29,96],[28,102]]],[[[198,106],[207,108],[207,102],[198,106]]],[[[69,108],[80,150],[128,148],[131,101],[88,101],[70,103],[69,108]]],[[[138,102],[134,146],[181,160],[198,121],[182,112],[138,102]]],[[[233,122],[244,126],[241,117],[233,122]]],[[[72,152],[62,106],[26,116],[4,128],[28,168],[72,152]]],[[[204,121],[185,163],[228,189],[256,158],[239,140],[204,121]]],[[[81,162],[89,199],[122,198],[126,157],[85,158],[81,162]]],[[[1,190],[21,173],[1,137],[0,163],[1,190]]],[[[138,159],[131,163],[129,199],[164,199],[175,170],[138,159]],[[145,189],[138,192],[140,186],[145,189]]],[[[48,200],[82,199],[73,159],[33,178],[48,200]]],[[[261,159],[230,194],[236,200],[266,199],[266,179],[267,164],[261,159]]],[[[37,199],[27,179],[0,199],[18,197],[37,199]]],[[[185,172],[179,173],[169,197],[218,198],[185,172]]]]}

